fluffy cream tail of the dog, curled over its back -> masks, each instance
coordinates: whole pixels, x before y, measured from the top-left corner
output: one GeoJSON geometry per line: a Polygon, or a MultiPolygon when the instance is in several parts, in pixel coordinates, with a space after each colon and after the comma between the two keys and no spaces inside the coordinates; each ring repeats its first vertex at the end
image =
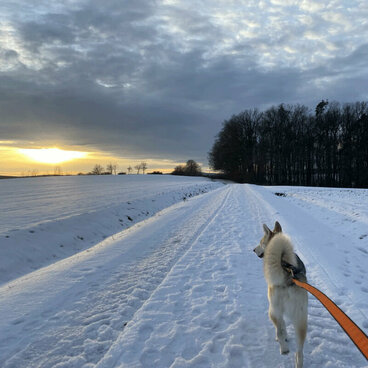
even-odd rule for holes
{"type": "Polygon", "coordinates": [[[282,262],[298,266],[290,238],[283,233],[277,233],[264,253],[264,274],[268,285],[285,285],[288,275],[282,268],[282,262]]]}

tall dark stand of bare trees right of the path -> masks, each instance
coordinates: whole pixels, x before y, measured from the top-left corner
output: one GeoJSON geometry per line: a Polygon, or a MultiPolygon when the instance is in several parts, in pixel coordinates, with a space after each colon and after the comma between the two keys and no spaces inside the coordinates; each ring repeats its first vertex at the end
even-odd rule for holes
{"type": "Polygon", "coordinates": [[[209,163],[239,182],[367,188],[367,143],[367,102],[281,104],[225,120],[209,163]]]}

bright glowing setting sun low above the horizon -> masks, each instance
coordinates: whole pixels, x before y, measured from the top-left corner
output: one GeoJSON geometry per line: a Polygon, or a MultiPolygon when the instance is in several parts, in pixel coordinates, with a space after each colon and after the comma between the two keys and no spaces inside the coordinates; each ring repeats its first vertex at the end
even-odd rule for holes
{"type": "Polygon", "coordinates": [[[87,152],[66,151],[59,148],[19,149],[22,155],[44,164],[59,164],[87,156],[87,152]]]}

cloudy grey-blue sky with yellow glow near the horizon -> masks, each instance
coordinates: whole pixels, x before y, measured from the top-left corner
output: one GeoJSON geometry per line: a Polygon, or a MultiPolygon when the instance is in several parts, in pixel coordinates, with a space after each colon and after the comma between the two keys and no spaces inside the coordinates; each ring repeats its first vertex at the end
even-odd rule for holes
{"type": "Polygon", "coordinates": [[[172,169],[224,120],[280,103],[368,100],[366,0],[2,0],[0,174],[18,149],[172,169]]]}

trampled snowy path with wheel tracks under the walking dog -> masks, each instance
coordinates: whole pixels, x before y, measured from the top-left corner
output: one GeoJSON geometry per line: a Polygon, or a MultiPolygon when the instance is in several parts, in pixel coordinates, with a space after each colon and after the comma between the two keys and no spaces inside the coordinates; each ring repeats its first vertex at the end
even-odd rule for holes
{"type": "MultiPolygon", "coordinates": [[[[316,245],[329,229],[264,188],[228,185],[1,287],[0,366],[292,367],[274,341],[252,252],[261,224],[275,219],[310,282],[368,328],[362,293],[344,288],[328,247],[316,245]]],[[[313,297],[309,305],[305,367],[367,367],[313,297]]]]}

